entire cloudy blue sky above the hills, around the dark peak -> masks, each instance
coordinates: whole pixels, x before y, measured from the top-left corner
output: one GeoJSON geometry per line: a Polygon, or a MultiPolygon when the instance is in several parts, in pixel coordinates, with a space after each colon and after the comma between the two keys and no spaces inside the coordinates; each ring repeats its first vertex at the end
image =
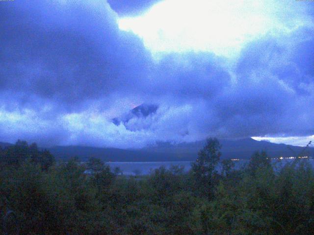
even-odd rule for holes
{"type": "Polygon", "coordinates": [[[0,141],[208,136],[314,139],[313,1],[0,1],[0,141]]]}

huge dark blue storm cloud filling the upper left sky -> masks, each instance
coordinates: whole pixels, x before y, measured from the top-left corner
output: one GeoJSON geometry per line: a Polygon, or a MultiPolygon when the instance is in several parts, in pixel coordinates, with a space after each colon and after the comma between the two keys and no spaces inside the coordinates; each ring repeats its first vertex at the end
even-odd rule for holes
{"type": "Polygon", "coordinates": [[[104,1],[1,3],[0,90],[59,100],[67,108],[132,90],[146,73],[149,53],[118,30],[104,1]],[[94,2],[95,3],[95,2],[94,2]]]}

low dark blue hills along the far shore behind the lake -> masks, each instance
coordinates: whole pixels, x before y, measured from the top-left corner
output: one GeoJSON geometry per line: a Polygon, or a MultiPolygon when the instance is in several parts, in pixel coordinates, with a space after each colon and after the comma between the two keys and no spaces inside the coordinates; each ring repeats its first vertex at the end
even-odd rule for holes
{"type": "MultiPolygon", "coordinates": [[[[303,151],[303,147],[276,144],[267,141],[255,141],[251,138],[240,140],[220,140],[222,144],[221,159],[250,159],[255,151],[264,150],[271,158],[303,156],[314,157],[314,148],[303,151]]],[[[67,160],[78,156],[82,161],[89,157],[100,158],[105,162],[163,162],[195,161],[197,153],[205,141],[172,144],[159,142],[142,149],[95,148],[84,146],[55,146],[49,150],[58,159],[67,160]]]]}

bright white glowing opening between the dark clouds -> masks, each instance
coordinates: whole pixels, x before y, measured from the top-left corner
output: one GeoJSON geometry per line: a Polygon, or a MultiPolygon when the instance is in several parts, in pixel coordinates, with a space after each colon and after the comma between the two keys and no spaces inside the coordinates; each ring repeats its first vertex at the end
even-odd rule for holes
{"type": "Polygon", "coordinates": [[[193,50],[231,57],[256,37],[299,24],[295,21],[285,26],[287,22],[279,22],[278,8],[268,3],[165,0],[142,16],[119,19],[119,27],[139,35],[153,53],[193,50]]]}

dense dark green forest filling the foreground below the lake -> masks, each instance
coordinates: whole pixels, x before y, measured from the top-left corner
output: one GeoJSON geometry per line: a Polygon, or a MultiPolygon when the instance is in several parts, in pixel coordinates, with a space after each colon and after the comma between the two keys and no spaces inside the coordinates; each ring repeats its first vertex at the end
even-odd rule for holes
{"type": "Polygon", "coordinates": [[[187,173],[160,167],[138,177],[95,158],[56,162],[25,141],[0,148],[0,234],[314,234],[308,159],[275,168],[256,152],[235,169],[220,148],[208,139],[187,173]]]}

